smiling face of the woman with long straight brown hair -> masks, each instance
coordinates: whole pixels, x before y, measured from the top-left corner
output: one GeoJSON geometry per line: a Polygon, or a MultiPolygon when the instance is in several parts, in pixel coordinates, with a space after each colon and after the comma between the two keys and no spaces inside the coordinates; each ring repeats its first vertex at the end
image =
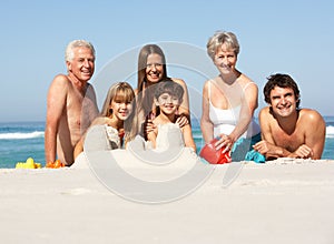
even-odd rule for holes
{"type": "Polygon", "coordinates": [[[164,61],[163,58],[153,53],[147,57],[146,62],[146,80],[150,83],[157,83],[163,79],[164,75],[164,61]]]}

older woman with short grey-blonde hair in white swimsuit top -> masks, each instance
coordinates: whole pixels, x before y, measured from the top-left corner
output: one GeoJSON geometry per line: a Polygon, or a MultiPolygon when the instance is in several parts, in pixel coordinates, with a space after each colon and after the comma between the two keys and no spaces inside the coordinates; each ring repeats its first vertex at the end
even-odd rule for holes
{"type": "Polygon", "coordinates": [[[207,42],[207,53],[219,74],[204,84],[203,138],[206,143],[218,138],[216,150],[232,151],[233,161],[259,161],[254,159],[256,153],[252,148],[261,140],[259,125],[253,118],[258,105],[258,88],[236,69],[239,53],[236,35],[216,32],[207,42]]]}

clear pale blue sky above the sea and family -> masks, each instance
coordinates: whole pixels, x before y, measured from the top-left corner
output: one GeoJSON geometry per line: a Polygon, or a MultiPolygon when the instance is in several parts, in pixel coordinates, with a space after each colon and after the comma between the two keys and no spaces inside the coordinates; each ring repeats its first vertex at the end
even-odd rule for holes
{"type": "Polygon", "coordinates": [[[327,0],[6,1],[0,9],[0,122],[46,120],[49,85],[67,72],[65,49],[75,39],[95,45],[91,83],[99,108],[116,81],[136,87],[139,49],[157,43],[170,63],[168,75],[186,81],[190,109],[199,116],[203,84],[218,74],[206,55],[207,40],[217,30],[238,38],[237,69],[258,84],[257,112],[266,105],[266,78],[288,73],[299,85],[303,108],[334,115],[333,12],[334,2],[327,0]]]}

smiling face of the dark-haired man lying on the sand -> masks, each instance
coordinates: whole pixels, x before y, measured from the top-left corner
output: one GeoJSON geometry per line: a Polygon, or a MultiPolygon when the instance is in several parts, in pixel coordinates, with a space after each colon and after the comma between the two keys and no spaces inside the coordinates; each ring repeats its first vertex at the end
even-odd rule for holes
{"type": "Polygon", "coordinates": [[[296,112],[297,98],[292,88],[275,87],[271,91],[271,105],[274,114],[279,116],[289,116],[296,112]]]}

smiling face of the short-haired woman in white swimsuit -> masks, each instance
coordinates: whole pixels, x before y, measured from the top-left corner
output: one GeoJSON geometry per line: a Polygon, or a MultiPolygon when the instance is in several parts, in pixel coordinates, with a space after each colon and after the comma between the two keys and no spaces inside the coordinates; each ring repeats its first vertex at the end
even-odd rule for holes
{"type": "Polygon", "coordinates": [[[217,50],[214,57],[214,63],[220,71],[220,73],[229,73],[235,70],[237,62],[237,55],[233,49],[228,49],[223,43],[217,50]]]}

